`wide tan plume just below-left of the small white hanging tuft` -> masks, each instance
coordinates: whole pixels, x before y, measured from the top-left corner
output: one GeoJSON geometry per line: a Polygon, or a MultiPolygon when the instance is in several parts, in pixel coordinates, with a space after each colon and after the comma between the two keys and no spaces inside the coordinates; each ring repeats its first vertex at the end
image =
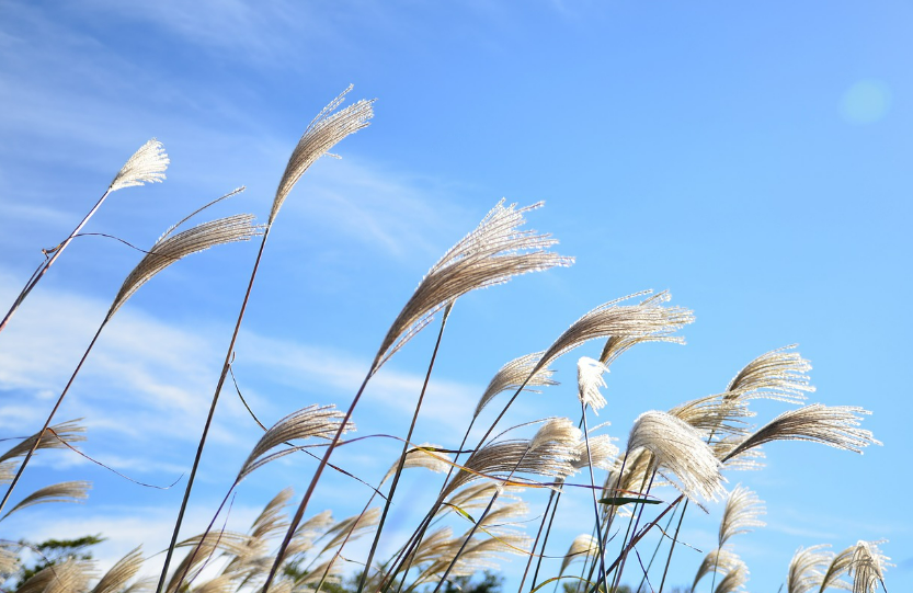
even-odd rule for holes
{"type": "MultiPolygon", "coordinates": [[[[443,495],[483,476],[534,474],[564,479],[573,474],[578,459],[580,429],[567,419],[548,419],[530,441],[491,443],[473,453],[466,468],[454,476],[443,495]]],[[[515,482],[514,482],[515,483],[515,482]]]]}

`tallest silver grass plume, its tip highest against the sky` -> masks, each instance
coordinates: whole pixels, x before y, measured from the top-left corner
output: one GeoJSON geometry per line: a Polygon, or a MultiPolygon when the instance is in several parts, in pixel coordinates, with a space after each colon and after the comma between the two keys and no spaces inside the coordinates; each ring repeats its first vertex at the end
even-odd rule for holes
{"type": "Polygon", "coordinates": [[[292,187],[301,179],[305,171],[313,164],[317,159],[327,155],[333,146],[340,140],[354,134],[368,125],[368,119],[374,117],[374,110],[372,107],[374,100],[361,100],[357,103],[349,105],[344,110],[335,111],[342,103],[345,94],[352,90],[352,84],[349,85],[339,96],[333,99],[329,105],[323,107],[323,111],[317,114],[305,133],[292,156],[288,158],[288,164],[285,167],[285,172],[279,181],[278,189],[276,189],[276,196],[273,198],[273,208],[270,212],[269,224],[272,225],[276,219],[285,198],[292,187]]]}

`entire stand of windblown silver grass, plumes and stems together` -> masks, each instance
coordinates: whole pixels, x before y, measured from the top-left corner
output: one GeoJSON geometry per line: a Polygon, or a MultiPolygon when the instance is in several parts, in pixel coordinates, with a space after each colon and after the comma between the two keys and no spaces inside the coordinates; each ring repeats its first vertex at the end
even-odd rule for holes
{"type": "MultiPolygon", "coordinates": [[[[175,510],[173,535],[160,577],[137,579],[144,562],[137,548],[98,580],[91,563],[71,559],[36,573],[19,588],[19,592],[125,593],[152,589],[157,593],[318,592],[338,588],[344,567],[354,562],[361,566],[357,593],[436,593],[455,577],[497,567],[497,559],[504,555],[518,555],[525,560],[518,593],[532,593],[547,585],[556,589],[559,584],[578,593],[612,592],[619,589],[623,579],[638,583],[637,591],[662,592],[673,552],[681,545],[678,534],[688,508],[703,508],[714,501],[724,501],[718,547],[709,551],[697,568],[692,589],[697,591],[700,585],[711,593],[740,591],[749,572],[744,561],[733,551],[730,539],[762,526],[758,516],[764,509],[757,495],[747,488],[737,486],[727,491],[722,472],[760,469],[763,465],[760,447],[773,441],[809,441],[856,453],[878,443],[870,432],[858,427],[860,415],[868,413],[866,410],[806,403],[806,394],[813,391],[807,376],[810,365],[792,346],[787,346],[751,361],[719,394],[687,401],[667,411],[644,412],[635,421],[625,447],[619,449],[614,443],[616,440],[600,434],[603,425],[591,426],[591,414],[597,413],[606,403],[600,392],[605,387],[604,374],[618,356],[640,343],[682,343],[680,331],[694,320],[687,309],[669,305],[667,293],[649,290],[594,308],[544,350],[512,360],[501,367],[479,399],[458,445],[413,443],[415,423],[454,303],[477,288],[573,262],[571,258],[551,251],[557,241],[549,235],[522,228],[525,215],[539,204],[517,207],[502,201],[421,281],[380,342],[374,361],[365,369],[361,388],[344,412],[331,406],[308,406],[267,429],[249,409],[253,420],[264,430],[262,438],[239,468],[222,505],[214,510],[208,528],[182,539],[184,513],[219,395],[226,379],[233,378],[235,343],[273,223],[307,169],[320,157],[329,155],[336,142],[365,127],[373,116],[373,101],[341,107],[346,92],[349,90],[320,112],[305,130],[279,181],[265,225],[255,225],[251,215],[237,215],[179,231],[191,218],[189,216],[168,229],[149,250],[141,250],[145,255],[124,281],[44,426],[0,456],[0,484],[5,487],[0,502],[0,512],[5,511],[5,514],[0,515],[0,522],[11,513],[37,503],[84,499],[89,483],[82,481],[49,486],[25,497],[21,497],[15,487],[38,449],[66,448],[79,453],[73,445],[84,438],[83,427],[76,421],[53,422],[102,330],[142,284],[170,264],[217,244],[259,239],[260,247],[227,343],[183,501],[175,510]],[[380,483],[366,484],[365,491],[369,494],[360,514],[338,521],[329,511],[310,512],[311,498],[327,468],[341,472],[353,483],[365,484],[344,467],[331,464],[331,456],[336,447],[346,443],[343,435],[355,430],[352,417],[365,387],[387,361],[435,317],[440,318],[437,340],[430,353],[424,384],[415,395],[410,427],[399,436],[402,448],[390,470],[380,483]],[[556,360],[594,342],[602,346],[601,351],[592,352],[598,352],[598,357],[582,356],[578,361],[578,401],[569,400],[575,417],[579,404],[577,420],[532,419],[523,425],[536,425],[532,438],[513,436],[512,431],[522,426],[501,425],[501,420],[523,392],[557,385],[550,369],[556,360]],[[754,417],[750,402],[758,398],[778,400],[791,408],[755,427],[749,423],[754,417]],[[482,410],[494,406],[495,401],[501,407],[495,419],[478,442],[468,443],[482,410]],[[247,533],[220,528],[218,518],[238,484],[260,467],[289,454],[309,455],[317,463],[310,483],[293,505],[290,516],[285,514],[285,509],[293,502],[294,494],[286,489],[270,501],[247,533]],[[400,476],[410,468],[440,472],[445,477],[440,480],[438,494],[411,536],[400,544],[396,554],[381,559],[376,554],[378,544],[397,495],[400,476]],[[535,535],[530,537],[525,533],[525,525],[517,522],[528,512],[522,498],[526,492],[543,489],[548,491],[548,502],[532,523],[529,531],[535,535]],[[669,497],[667,492],[674,495],[669,497]],[[587,504],[592,502],[592,526],[567,548],[563,547],[567,543],[551,541],[550,549],[558,546],[567,552],[549,555],[546,546],[552,522],[562,499],[569,495],[583,495],[587,504]],[[456,533],[453,525],[442,522],[448,515],[460,518],[468,528],[456,533]],[[660,537],[655,537],[658,533],[660,537]],[[658,543],[647,546],[642,540],[648,534],[653,534],[650,541],[658,539],[658,543]],[[362,537],[373,538],[367,556],[351,558],[345,552],[346,546],[362,537]],[[181,554],[175,556],[178,552],[181,554]],[[549,574],[544,570],[548,565],[543,560],[556,557],[562,558],[560,571],[549,574]],[[205,575],[204,569],[208,569],[205,575]]],[[[155,139],[129,159],[73,232],[56,248],[44,250],[45,261],[0,322],[0,331],[50,265],[80,235],[102,202],[117,190],[162,181],[168,162],[164,149],[155,139]]],[[[840,554],[829,552],[823,546],[800,548],[786,571],[786,591],[848,589],[861,593],[875,591],[879,584],[885,588],[883,571],[889,563],[877,544],[858,541],[840,554]]],[[[0,575],[3,578],[13,574],[18,568],[18,545],[0,540],[0,575]]]]}

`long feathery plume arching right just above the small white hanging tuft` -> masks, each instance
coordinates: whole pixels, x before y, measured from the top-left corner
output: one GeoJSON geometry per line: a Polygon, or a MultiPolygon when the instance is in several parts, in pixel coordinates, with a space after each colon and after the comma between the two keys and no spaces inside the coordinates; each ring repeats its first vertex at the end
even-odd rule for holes
{"type": "Polygon", "coordinates": [[[629,295],[589,311],[574,321],[543,354],[539,366],[548,366],[558,356],[601,338],[664,338],[694,321],[692,311],[682,307],[661,307],[671,297],[667,292],[639,305],[618,305],[644,293],[629,295]]]}

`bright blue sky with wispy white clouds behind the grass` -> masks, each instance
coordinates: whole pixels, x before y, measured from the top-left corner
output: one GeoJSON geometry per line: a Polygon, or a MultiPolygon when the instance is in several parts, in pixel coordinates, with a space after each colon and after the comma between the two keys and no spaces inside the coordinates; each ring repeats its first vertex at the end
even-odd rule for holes
{"type": "MultiPolygon", "coordinates": [[[[377,98],[369,128],[295,189],[271,233],[237,346],[236,372],[264,422],[310,403],[347,406],[389,323],[426,270],[503,196],[540,199],[570,269],[459,300],[418,441],[455,446],[506,361],[545,349],[601,303],[670,289],[695,311],[687,345],[648,344],[607,377],[609,434],[642,411],[718,392],[755,356],[791,343],[809,358],[810,401],[872,411],[883,447],[864,456],[804,443],[766,447],[767,468],[731,475],[767,503],[767,527],[734,540],[750,590],[783,582],[796,548],[888,538],[913,575],[902,470],[911,451],[909,366],[913,192],[913,5],[901,1],[731,3],[537,1],[0,3],[0,303],[10,303],[111,178],[150,137],[168,180],[111,196],[87,230],[148,246],[239,185],[218,214],[269,213],[304,127],[354,83],[377,98]]],[[[83,451],[139,480],[187,470],[255,250],[180,262],[105,330],[61,420],[84,417],[83,451]]],[[[0,335],[0,431],[36,431],[139,255],[77,241],[0,335]]],[[[360,432],[400,434],[436,328],[397,354],[356,411],[360,432]]],[[[598,355],[601,344],[577,355],[598,355]]],[[[509,422],[577,418],[575,356],[560,387],[509,422]]],[[[258,438],[226,391],[189,529],[199,529],[258,438]]],[[[757,402],[757,421],[784,411],[757,402]]],[[[334,460],[376,479],[396,452],[369,441],[334,460]]],[[[312,465],[286,458],[241,488],[243,528],[312,465]]],[[[84,506],[46,505],[2,537],[110,537],[106,561],[164,545],[179,489],[136,487],[75,456],[41,456],[25,487],[90,479],[84,506]]],[[[182,482],[183,483],[183,482],[182,482]]],[[[403,500],[421,498],[407,482],[403,500]]],[[[311,509],[347,516],[364,487],[321,482],[311,509]]],[[[529,500],[530,517],[541,513],[529,500]]],[[[404,532],[412,506],[399,505],[404,532]]],[[[420,504],[415,504],[420,506],[420,504]]],[[[712,547],[721,509],[684,536],[712,547]]],[[[579,532],[570,501],[553,554],[579,532]]],[[[585,517],[585,514],[582,515],[585,517]]],[[[585,518],[582,521],[585,522],[585,518]]],[[[392,544],[388,544],[392,549],[392,544]]],[[[682,548],[673,583],[701,556],[682,548]]],[[[150,566],[160,557],[156,557],[150,566]]],[[[504,565],[506,590],[522,562],[504,565]]],[[[557,570],[557,569],[556,569],[557,570]]],[[[707,583],[705,583],[705,586],[707,583]]]]}

